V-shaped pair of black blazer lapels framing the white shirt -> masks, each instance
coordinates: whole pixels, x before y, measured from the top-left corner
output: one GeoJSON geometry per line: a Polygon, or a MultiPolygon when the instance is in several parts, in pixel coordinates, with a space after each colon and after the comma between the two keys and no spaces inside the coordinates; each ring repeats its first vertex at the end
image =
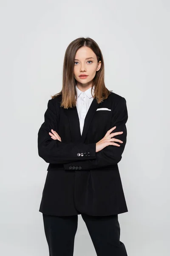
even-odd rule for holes
{"type": "Polygon", "coordinates": [[[95,98],[91,102],[90,108],[88,109],[88,112],[85,116],[85,122],[84,122],[82,135],[80,132],[80,123],[79,123],[79,115],[77,112],[77,107],[64,109],[66,115],[68,116],[70,131],[71,131],[71,138],[73,141],[81,142],[81,143],[85,142],[85,138],[88,133],[88,128],[91,124],[94,113],[96,112],[96,109],[99,107],[100,104],[101,103],[99,103],[99,104],[97,103],[97,100],[95,98]]]}

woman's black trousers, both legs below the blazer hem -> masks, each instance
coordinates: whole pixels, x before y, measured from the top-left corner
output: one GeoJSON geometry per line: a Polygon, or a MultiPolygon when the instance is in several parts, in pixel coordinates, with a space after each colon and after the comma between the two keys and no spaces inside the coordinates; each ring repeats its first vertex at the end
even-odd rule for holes
{"type": "MultiPolygon", "coordinates": [[[[43,215],[45,236],[50,256],[73,256],[78,215],[43,215]]],[[[81,214],[97,256],[127,256],[120,239],[118,215],[90,216],[81,214]]]]}

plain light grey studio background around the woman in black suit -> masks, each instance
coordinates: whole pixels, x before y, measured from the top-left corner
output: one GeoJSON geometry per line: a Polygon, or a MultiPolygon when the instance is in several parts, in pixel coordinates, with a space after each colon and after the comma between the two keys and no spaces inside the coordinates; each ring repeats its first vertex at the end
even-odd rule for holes
{"type": "MultiPolygon", "coordinates": [[[[170,2],[0,1],[0,31],[0,254],[48,256],[39,212],[48,163],[37,132],[62,88],[68,44],[91,37],[106,87],[127,100],[121,241],[128,256],[169,256],[170,2]]],[[[96,253],[79,215],[74,256],[85,255],[96,253]]]]}

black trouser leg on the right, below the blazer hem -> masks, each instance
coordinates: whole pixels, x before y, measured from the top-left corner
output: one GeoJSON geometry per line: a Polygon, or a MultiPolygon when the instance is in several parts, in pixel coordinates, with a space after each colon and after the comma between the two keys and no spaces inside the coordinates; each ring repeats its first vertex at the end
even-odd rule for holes
{"type": "Polygon", "coordinates": [[[118,215],[90,216],[82,214],[97,256],[127,256],[120,239],[118,215]]]}

